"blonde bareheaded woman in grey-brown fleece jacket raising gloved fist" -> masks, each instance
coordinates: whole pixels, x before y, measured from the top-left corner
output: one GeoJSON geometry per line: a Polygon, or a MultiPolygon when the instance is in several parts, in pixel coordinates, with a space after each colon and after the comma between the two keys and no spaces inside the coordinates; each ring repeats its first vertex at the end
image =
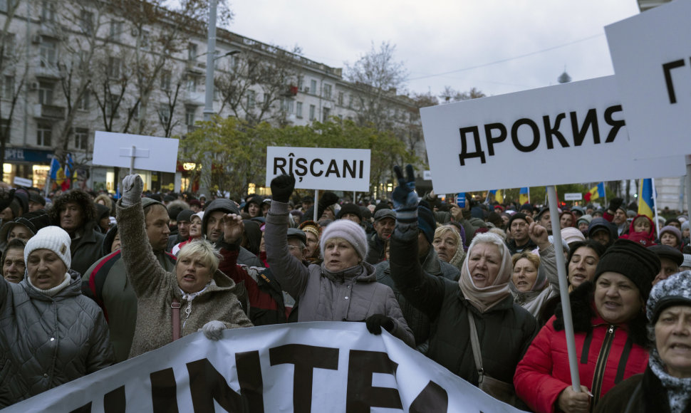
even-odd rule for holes
{"type": "MultiPolygon", "coordinates": [[[[130,358],[162,347],[176,335],[182,337],[199,329],[207,338],[218,340],[224,328],[250,327],[235,295],[234,281],[217,271],[220,253],[212,244],[190,243],[178,254],[175,273],[165,271],[147,239],[141,177],[128,175],[123,188],[117,204],[118,229],[128,279],[137,295],[130,358]],[[175,315],[173,303],[179,303],[179,315],[175,315]]],[[[233,228],[241,231],[239,225],[233,228]]]]}

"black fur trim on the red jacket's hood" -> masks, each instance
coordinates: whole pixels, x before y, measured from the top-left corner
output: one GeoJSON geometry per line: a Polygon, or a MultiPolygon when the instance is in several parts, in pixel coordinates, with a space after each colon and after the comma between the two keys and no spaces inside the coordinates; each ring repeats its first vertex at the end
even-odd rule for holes
{"type": "MultiPolygon", "coordinates": [[[[595,284],[591,281],[582,283],[568,295],[571,301],[571,318],[573,318],[574,332],[590,333],[593,330],[593,320],[600,319],[600,315],[598,315],[594,307],[594,295],[595,284]]],[[[554,329],[557,331],[563,330],[561,303],[557,305],[554,315],[556,315],[554,329]]],[[[640,311],[633,320],[627,323],[626,328],[633,343],[641,347],[650,348],[651,343],[646,330],[647,324],[648,319],[645,318],[645,311],[640,311]]]]}

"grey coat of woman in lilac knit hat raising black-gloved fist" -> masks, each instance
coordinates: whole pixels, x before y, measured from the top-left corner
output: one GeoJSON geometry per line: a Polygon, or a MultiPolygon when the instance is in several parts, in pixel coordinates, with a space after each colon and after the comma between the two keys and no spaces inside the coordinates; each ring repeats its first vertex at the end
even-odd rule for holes
{"type": "Polygon", "coordinates": [[[266,260],[281,288],[298,300],[298,321],[364,321],[383,314],[395,323],[392,335],[414,346],[398,301],[388,286],[377,283],[374,267],[366,262],[339,273],[323,265],[306,267],[288,249],[288,204],[271,202],[266,216],[266,260]]]}

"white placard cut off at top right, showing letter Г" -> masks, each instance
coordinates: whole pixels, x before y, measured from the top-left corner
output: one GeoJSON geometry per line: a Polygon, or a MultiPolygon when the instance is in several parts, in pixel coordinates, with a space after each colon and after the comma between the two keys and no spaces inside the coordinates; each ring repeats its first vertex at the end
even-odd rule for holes
{"type": "Polygon", "coordinates": [[[636,159],[691,153],[691,1],[606,26],[636,159]]]}

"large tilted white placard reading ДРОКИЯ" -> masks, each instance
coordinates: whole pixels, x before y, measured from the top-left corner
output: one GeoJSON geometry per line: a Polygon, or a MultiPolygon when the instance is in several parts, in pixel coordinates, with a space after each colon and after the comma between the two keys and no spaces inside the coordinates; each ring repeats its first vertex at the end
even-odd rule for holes
{"type": "Polygon", "coordinates": [[[420,115],[437,194],[685,174],[680,156],[633,162],[614,76],[420,115]]]}

